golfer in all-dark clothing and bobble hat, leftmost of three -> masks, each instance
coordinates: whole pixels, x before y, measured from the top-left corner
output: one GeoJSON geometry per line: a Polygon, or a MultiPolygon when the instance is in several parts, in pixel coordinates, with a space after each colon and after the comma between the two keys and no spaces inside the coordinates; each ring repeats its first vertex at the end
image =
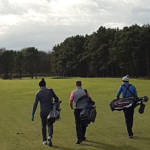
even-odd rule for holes
{"type": "Polygon", "coordinates": [[[42,79],[39,82],[39,87],[40,90],[37,92],[33,104],[32,121],[34,121],[34,115],[37,109],[38,102],[40,102],[40,117],[42,123],[43,144],[44,145],[48,144],[49,146],[52,146],[53,122],[49,121],[47,119],[47,116],[49,115],[49,112],[53,108],[53,98],[55,99],[55,102],[58,102],[59,99],[52,89],[46,88],[46,82],[44,79],[42,79]],[[48,138],[46,127],[48,127],[48,138]]]}

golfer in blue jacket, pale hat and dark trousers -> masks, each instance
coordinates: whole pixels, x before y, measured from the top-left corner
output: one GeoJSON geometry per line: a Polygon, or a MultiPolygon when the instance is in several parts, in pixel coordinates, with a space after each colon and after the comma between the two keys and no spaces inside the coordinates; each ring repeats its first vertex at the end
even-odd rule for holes
{"type": "MultiPolygon", "coordinates": [[[[126,75],[122,77],[123,84],[119,87],[117,91],[117,98],[120,98],[120,95],[122,94],[123,98],[128,97],[137,97],[137,91],[134,85],[129,84],[129,76],[126,75]]],[[[128,131],[129,138],[133,138],[133,116],[134,116],[134,106],[131,106],[129,108],[125,108],[123,110],[126,127],[128,131]]]]}

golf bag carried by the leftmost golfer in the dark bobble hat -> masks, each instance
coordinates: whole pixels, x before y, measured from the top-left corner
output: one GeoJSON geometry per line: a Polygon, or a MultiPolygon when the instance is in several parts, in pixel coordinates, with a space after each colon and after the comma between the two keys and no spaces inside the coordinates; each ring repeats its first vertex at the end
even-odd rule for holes
{"type": "Polygon", "coordinates": [[[61,101],[57,101],[53,103],[53,108],[47,116],[47,120],[50,122],[55,122],[60,120],[60,103],[61,101]]]}

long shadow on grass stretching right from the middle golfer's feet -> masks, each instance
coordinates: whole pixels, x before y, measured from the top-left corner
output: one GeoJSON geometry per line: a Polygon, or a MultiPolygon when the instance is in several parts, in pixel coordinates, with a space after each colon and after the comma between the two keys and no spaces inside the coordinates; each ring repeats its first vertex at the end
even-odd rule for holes
{"type": "Polygon", "coordinates": [[[103,150],[138,150],[136,147],[132,147],[129,145],[116,146],[116,145],[97,142],[93,140],[87,140],[86,143],[83,143],[82,145],[95,147],[103,150]]]}

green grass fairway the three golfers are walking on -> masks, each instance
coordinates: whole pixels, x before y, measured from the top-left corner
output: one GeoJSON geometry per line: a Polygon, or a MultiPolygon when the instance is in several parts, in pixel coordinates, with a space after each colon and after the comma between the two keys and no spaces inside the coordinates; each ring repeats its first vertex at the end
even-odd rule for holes
{"type": "MultiPolygon", "coordinates": [[[[54,124],[53,147],[43,146],[39,105],[35,121],[31,121],[34,96],[40,79],[0,79],[0,150],[150,150],[150,101],[145,113],[134,114],[134,139],[129,139],[123,112],[112,112],[110,101],[115,98],[120,78],[45,78],[62,100],[61,121],[54,124]],[[76,145],[73,111],[69,97],[75,81],[81,80],[96,102],[97,118],[87,128],[87,141],[76,145]]],[[[150,80],[131,79],[138,96],[150,98],[150,80]]]]}

